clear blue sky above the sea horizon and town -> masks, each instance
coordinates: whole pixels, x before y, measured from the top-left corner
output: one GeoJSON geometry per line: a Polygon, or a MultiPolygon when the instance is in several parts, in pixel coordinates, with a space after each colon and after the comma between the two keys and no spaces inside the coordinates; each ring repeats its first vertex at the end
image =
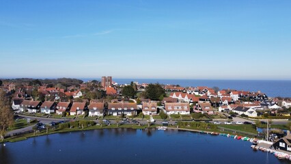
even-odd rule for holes
{"type": "Polygon", "coordinates": [[[0,78],[291,79],[291,1],[0,1],[0,78]]]}

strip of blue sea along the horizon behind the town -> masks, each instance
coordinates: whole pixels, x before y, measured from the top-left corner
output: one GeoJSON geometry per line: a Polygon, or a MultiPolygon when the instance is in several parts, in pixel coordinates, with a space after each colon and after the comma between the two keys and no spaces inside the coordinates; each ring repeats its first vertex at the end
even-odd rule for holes
{"type": "MultiPolygon", "coordinates": [[[[81,79],[90,81],[93,79],[81,79]]],[[[100,79],[96,79],[100,81],[100,79]]],[[[160,83],[169,85],[180,85],[182,87],[219,87],[220,90],[244,90],[266,94],[269,97],[291,98],[291,81],[279,80],[206,80],[206,79],[112,79],[118,84],[126,84],[131,81],[138,83],[160,83]]]]}

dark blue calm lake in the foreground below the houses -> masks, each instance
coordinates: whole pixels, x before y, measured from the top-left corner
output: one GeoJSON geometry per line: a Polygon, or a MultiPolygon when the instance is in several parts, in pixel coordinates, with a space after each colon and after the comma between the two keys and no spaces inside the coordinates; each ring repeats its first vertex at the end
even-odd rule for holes
{"type": "Polygon", "coordinates": [[[0,163],[287,163],[248,141],[185,131],[107,129],[0,146],[0,163]]]}

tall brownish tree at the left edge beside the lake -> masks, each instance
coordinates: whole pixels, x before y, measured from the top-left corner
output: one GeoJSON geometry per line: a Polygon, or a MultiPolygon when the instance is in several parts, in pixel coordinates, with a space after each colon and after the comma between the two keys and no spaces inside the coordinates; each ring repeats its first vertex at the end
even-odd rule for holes
{"type": "Polygon", "coordinates": [[[8,98],[5,97],[5,93],[0,93],[0,139],[3,141],[5,132],[9,126],[14,123],[13,114],[10,110],[8,98]]]}

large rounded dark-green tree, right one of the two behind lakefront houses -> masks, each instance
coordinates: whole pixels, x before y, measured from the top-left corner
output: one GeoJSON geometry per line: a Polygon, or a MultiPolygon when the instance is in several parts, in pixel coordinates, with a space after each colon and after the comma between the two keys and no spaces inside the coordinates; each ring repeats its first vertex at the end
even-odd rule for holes
{"type": "Polygon", "coordinates": [[[160,84],[152,84],[150,83],[148,87],[146,87],[146,98],[150,98],[150,100],[159,100],[160,98],[165,97],[165,90],[160,84]]]}

